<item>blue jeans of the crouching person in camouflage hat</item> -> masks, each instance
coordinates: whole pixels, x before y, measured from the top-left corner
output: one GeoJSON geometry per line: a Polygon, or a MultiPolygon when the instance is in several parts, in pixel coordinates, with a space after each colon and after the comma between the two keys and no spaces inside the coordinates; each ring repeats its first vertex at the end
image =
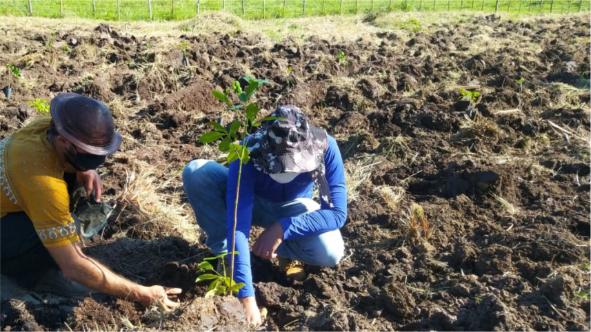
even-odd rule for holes
{"type": "MultiPolygon", "coordinates": [[[[183,169],[183,184],[197,224],[207,234],[206,245],[214,255],[228,252],[226,240],[226,191],[228,168],[212,160],[192,160],[183,169]]],[[[281,218],[308,214],[320,205],[311,198],[297,198],[290,202],[274,203],[254,196],[252,225],[270,227],[281,218]]],[[[327,231],[281,242],[277,255],[305,264],[333,267],[338,264],[345,245],[341,231],[327,231]]]]}

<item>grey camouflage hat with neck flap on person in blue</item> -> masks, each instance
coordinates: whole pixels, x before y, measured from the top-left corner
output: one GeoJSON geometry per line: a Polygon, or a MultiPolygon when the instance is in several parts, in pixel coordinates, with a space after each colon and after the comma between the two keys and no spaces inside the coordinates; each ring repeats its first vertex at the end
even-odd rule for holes
{"type": "Polygon", "coordinates": [[[310,125],[294,105],[279,106],[271,116],[285,120],[263,122],[246,143],[254,168],[266,174],[308,172],[322,200],[332,207],[324,166],[328,134],[310,125]]]}

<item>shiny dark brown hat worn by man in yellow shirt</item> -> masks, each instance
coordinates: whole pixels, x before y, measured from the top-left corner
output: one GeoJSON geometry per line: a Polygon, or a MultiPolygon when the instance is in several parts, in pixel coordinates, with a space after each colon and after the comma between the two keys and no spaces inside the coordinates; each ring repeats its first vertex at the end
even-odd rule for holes
{"type": "Polygon", "coordinates": [[[89,154],[108,156],[121,146],[111,112],[97,99],[71,92],[58,94],[50,105],[57,132],[89,154]]]}

